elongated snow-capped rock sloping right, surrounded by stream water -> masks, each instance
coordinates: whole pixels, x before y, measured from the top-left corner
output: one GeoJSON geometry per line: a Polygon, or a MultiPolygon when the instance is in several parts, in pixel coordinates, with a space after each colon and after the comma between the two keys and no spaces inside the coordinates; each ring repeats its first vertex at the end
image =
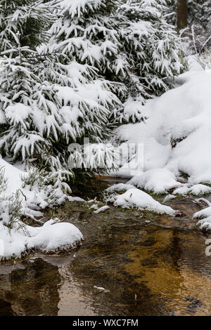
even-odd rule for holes
{"type": "Polygon", "coordinates": [[[114,206],[121,206],[123,209],[136,207],[141,210],[146,209],[156,213],[166,213],[170,216],[174,216],[176,213],[170,206],[160,204],[149,194],[136,188],[129,189],[124,194],[111,197],[110,202],[113,202],[114,206]]]}

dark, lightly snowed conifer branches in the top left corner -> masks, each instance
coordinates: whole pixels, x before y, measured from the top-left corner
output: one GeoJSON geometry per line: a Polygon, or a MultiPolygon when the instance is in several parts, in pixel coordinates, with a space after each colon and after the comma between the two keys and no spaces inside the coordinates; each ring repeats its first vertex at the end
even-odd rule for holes
{"type": "Polygon", "coordinates": [[[20,45],[35,48],[48,39],[47,29],[56,16],[56,1],[43,0],[0,1],[0,49],[5,51],[16,45],[14,35],[20,33],[20,45]]]}

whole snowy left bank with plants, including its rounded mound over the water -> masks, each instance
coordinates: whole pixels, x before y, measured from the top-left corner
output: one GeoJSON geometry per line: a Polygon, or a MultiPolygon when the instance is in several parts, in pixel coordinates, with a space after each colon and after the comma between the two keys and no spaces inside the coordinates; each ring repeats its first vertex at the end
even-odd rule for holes
{"type": "Polygon", "coordinates": [[[31,227],[20,216],[36,220],[34,217],[42,216],[39,209],[61,204],[65,199],[79,202],[84,199],[68,197],[60,187],[47,182],[45,185],[46,178],[21,171],[4,159],[0,159],[0,169],[0,260],[20,257],[27,249],[68,249],[82,241],[82,233],[70,223],[58,223],[56,219],[41,227],[31,227]]]}

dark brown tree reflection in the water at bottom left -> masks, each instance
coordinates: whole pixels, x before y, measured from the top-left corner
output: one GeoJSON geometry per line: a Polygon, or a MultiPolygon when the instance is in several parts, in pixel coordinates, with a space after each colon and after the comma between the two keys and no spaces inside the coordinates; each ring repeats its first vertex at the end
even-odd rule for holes
{"type": "MultiPolygon", "coordinates": [[[[14,315],[58,314],[60,276],[56,266],[39,258],[24,269],[13,270],[9,279],[4,301],[11,303],[14,315]]],[[[1,278],[0,286],[4,289],[1,278]]]]}

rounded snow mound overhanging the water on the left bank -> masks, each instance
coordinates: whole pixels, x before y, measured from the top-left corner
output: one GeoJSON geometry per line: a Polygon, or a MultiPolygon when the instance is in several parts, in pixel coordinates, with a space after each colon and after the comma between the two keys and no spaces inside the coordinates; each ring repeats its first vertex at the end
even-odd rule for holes
{"type": "Polygon", "coordinates": [[[70,223],[55,223],[58,219],[51,219],[41,227],[28,225],[16,226],[8,235],[8,227],[0,222],[0,260],[18,258],[29,249],[45,252],[57,249],[69,249],[77,246],[82,239],[82,233],[70,223]]]}

